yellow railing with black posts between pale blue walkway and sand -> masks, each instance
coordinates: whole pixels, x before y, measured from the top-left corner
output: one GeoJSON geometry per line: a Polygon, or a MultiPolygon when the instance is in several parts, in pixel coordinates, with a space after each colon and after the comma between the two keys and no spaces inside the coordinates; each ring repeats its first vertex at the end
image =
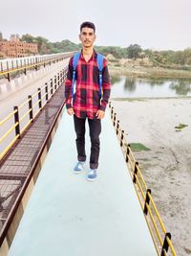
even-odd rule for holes
{"type": "Polygon", "coordinates": [[[171,234],[166,232],[164,224],[161,221],[159,211],[151,196],[151,189],[147,187],[144,181],[144,178],[138,167],[138,162],[136,161],[133,151],[131,150],[131,146],[124,136],[124,130],[119,126],[117,113],[114,112],[114,107],[111,105],[111,102],[109,106],[111,108],[111,119],[114,127],[116,128],[117,138],[125,157],[129,173],[134,182],[138,200],[144,213],[144,217],[155,244],[157,253],[159,256],[176,256],[177,254],[171,241],[171,234]]]}

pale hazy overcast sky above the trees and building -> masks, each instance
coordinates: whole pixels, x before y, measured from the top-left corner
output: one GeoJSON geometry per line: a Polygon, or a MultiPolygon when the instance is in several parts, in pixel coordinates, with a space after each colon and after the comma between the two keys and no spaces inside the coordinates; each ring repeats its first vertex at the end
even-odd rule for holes
{"type": "Polygon", "coordinates": [[[83,21],[96,25],[96,45],[183,50],[191,47],[191,0],[6,0],[0,32],[79,43],[83,21]]]}

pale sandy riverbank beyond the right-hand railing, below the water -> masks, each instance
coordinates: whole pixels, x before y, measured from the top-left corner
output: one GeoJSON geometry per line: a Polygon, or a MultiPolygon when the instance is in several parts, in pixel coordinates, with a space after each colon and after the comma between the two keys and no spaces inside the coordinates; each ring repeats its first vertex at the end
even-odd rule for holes
{"type": "Polygon", "coordinates": [[[177,255],[191,255],[191,98],[112,100],[177,255]],[[187,127],[179,129],[180,124],[187,127]]]}

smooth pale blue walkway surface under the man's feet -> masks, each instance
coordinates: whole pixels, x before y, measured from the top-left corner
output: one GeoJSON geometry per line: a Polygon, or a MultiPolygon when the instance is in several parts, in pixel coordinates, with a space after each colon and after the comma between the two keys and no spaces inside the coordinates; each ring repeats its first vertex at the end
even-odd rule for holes
{"type": "MultiPolygon", "coordinates": [[[[95,182],[85,179],[88,164],[83,174],[73,173],[74,136],[64,109],[9,256],[157,255],[109,111],[95,182]]],[[[87,146],[89,155],[88,132],[87,146]]]]}

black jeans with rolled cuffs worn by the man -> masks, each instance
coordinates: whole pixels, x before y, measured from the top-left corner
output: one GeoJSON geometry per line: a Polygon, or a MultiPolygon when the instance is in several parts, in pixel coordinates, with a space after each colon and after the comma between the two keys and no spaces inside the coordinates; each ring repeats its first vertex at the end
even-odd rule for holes
{"type": "MultiPolygon", "coordinates": [[[[77,118],[74,115],[74,130],[76,132],[76,148],[78,161],[86,161],[85,151],[85,122],[84,118],[77,118]]],[[[91,155],[90,155],[90,168],[97,169],[98,156],[100,151],[99,134],[101,132],[100,119],[88,119],[90,138],[91,138],[91,155]]]]}

